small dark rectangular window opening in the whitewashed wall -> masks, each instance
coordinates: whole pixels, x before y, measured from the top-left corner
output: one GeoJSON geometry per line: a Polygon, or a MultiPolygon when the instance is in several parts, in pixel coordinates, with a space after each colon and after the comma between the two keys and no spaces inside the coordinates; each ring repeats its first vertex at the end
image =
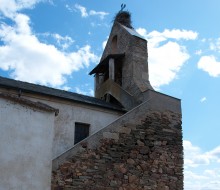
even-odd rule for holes
{"type": "Polygon", "coordinates": [[[89,127],[90,125],[86,123],[75,123],[74,144],[89,136],[89,127]]]}

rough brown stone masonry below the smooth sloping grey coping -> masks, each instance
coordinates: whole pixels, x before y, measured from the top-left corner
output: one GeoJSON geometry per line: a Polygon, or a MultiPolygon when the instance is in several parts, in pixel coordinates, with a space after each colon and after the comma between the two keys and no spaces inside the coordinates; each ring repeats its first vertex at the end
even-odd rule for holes
{"type": "Polygon", "coordinates": [[[81,145],[81,153],[53,172],[52,190],[183,189],[180,114],[147,111],[137,124],[103,132],[97,148],[81,145]]]}

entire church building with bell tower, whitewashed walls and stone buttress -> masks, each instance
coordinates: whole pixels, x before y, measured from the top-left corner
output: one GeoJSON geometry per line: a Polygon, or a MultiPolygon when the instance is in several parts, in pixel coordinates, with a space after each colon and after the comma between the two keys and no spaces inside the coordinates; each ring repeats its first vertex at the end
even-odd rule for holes
{"type": "Polygon", "coordinates": [[[151,86],[129,12],[89,74],[95,97],[0,77],[0,189],[183,189],[181,101],[151,86]]]}

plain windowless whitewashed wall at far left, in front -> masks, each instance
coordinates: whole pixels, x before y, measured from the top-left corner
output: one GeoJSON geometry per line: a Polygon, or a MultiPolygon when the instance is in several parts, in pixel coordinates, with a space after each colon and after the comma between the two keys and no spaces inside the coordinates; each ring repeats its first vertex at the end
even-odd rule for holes
{"type": "Polygon", "coordinates": [[[0,98],[0,190],[51,188],[54,117],[0,98]]]}

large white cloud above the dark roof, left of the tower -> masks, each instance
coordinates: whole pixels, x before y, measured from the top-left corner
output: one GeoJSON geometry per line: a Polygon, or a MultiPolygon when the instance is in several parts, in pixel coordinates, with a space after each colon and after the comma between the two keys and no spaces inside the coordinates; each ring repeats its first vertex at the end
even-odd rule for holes
{"type": "MultiPolygon", "coordinates": [[[[40,42],[31,31],[27,15],[14,13],[12,20],[14,26],[0,25],[0,39],[4,44],[0,46],[0,68],[10,71],[17,80],[62,87],[66,75],[98,61],[89,45],[67,53],[54,45],[40,42]]],[[[54,37],[60,43],[72,43],[68,36],[56,34],[54,37]]],[[[63,48],[69,44],[64,43],[63,48]]]]}

